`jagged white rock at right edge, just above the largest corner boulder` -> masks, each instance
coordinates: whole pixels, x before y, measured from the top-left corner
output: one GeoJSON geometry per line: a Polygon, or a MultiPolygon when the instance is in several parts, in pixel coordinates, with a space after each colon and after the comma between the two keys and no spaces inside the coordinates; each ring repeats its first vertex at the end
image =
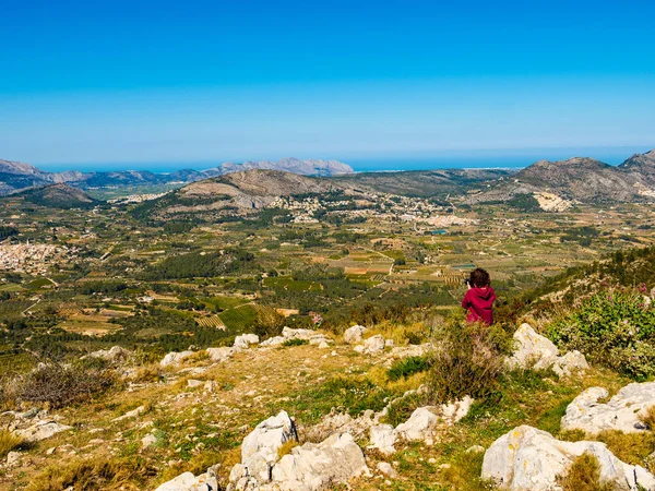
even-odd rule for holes
{"type": "Polygon", "coordinates": [[[655,382],[628,384],[607,404],[598,403],[608,395],[603,387],[583,391],[567,407],[561,420],[562,430],[582,430],[591,435],[605,430],[624,433],[646,430],[639,417],[655,406],[655,382]]]}

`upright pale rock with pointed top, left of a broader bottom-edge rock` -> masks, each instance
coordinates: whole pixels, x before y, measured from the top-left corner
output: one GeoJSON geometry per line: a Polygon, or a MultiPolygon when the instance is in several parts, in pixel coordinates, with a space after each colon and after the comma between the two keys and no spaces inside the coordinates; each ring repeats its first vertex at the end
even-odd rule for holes
{"type": "Polygon", "coordinates": [[[247,476],[260,483],[267,482],[271,467],[277,462],[277,450],[289,440],[297,441],[298,433],[286,411],[259,423],[241,444],[241,465],[247,476]]]}

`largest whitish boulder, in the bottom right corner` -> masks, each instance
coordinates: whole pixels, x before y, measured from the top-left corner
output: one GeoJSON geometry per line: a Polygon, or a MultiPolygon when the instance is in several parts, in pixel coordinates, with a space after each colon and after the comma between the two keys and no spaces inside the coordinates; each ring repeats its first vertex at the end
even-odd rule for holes
{"type": "Polygon", "coordinates": [[[584,453],[598,458],[600,480],[618,490],[638,486],[655,489],[655,478],[643,467],[619,460],[604,443],[561,442],[546,431],[522,426],[499,438],[485,453],[483,479],[504,490],[551,491],[561,489],[558,476],[565,476],[573,460],[584,453]]]}

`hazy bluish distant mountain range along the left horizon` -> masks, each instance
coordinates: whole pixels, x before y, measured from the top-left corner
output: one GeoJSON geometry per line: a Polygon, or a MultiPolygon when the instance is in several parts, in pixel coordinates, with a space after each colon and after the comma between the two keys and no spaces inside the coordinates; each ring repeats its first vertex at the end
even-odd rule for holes
{"type": "Polygon", "coordinates": [[[242,164],[225,163],[206,170],[182,169],[166,173],[146,170],[48,172],[29,164],[0,160],[0,195],[59,182],[70,182],[82,189],[186,183],[249,169],[284,170],[303,176],[334,176],[353,172],[350,166],[341,161],[298,158],[283,158],[278,161],[245,161],[242,164]]]}

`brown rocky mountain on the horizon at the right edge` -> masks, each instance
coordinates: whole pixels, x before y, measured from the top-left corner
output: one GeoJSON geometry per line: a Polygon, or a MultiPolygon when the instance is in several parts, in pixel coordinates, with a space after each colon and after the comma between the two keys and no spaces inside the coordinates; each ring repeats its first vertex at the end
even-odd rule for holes
{"type": "Polygon", "coordinates": [[[487,183],[468,202],[508,201],[520,194],[555,193],[582,203],[630,202],[655,197],[655,151],[638,154],[619,166],[587,157],[539,160],[510,178],[487,183]]]}

